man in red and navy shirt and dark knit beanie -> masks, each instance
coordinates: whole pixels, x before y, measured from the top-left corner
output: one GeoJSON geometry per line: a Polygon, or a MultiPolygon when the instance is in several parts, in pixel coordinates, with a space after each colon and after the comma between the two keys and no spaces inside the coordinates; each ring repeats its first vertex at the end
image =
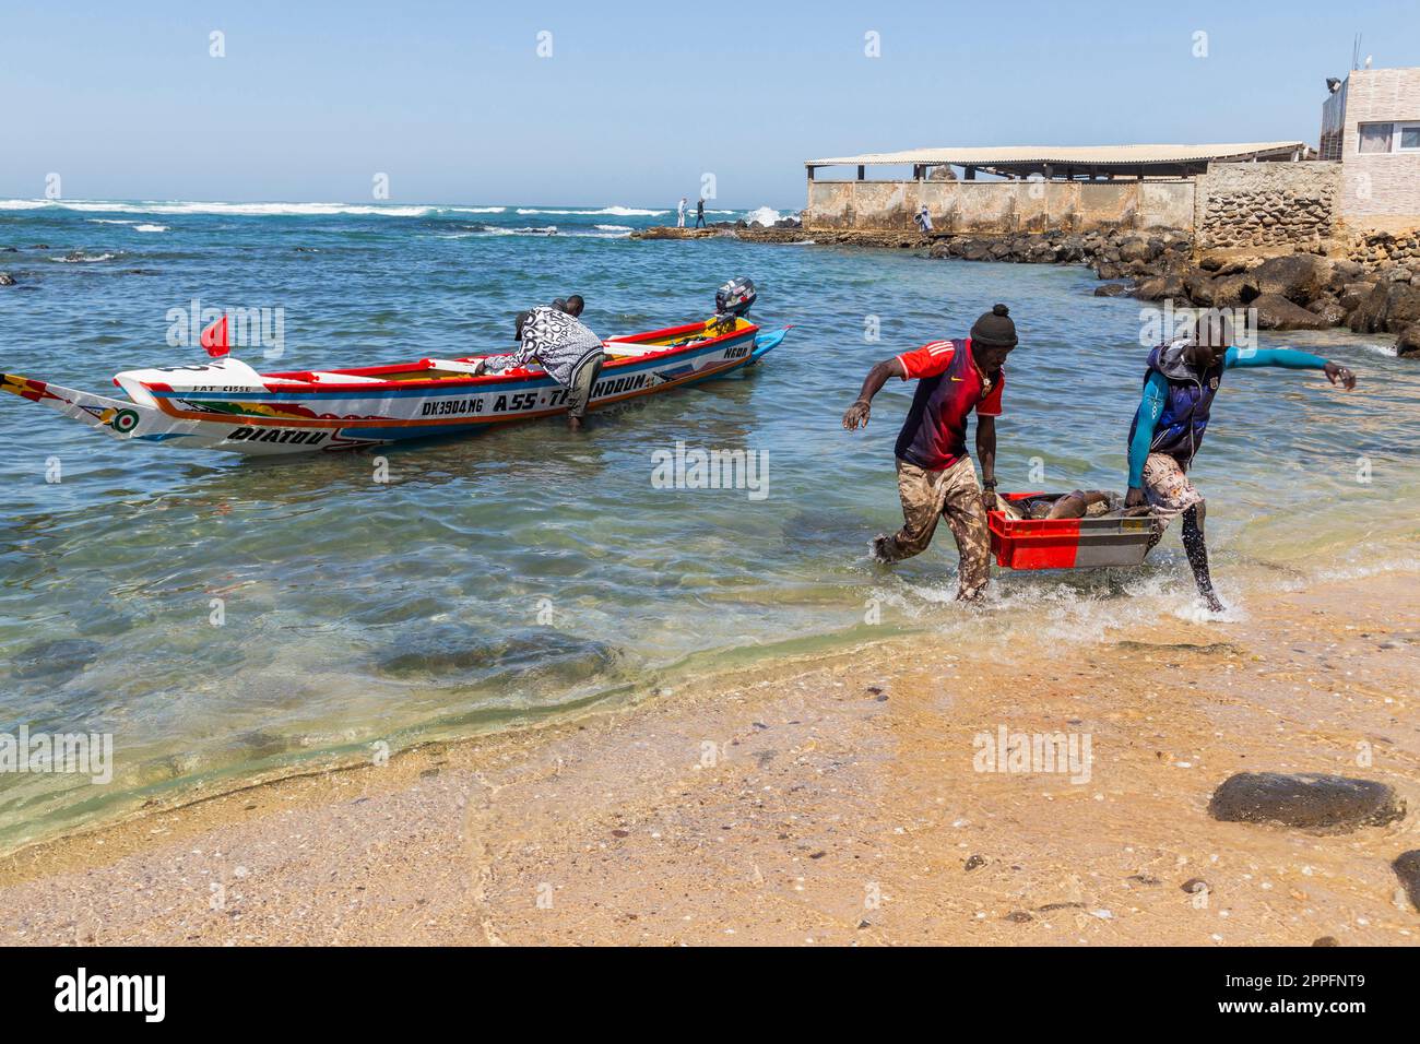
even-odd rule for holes
{"type": "Polygon", "coordinates": [[[1015,322],[1010,310],[998,304],[976,321],[966,339],[933,341],[879,362],[868,371],[858,401],[843,413],[843,428],[862,428],[872,412],[872,398],[888,378],[917,381],[912,409],[897,435],[903,527],[873,540],[873,557],[893,562],[920,554],[932,543],[937,520],[946,517],[961,554],[957,571],[961,599],[980,598],[990,580],[985,513],[995,506],[995,419],[1001,416],[1005,386],[1003,364],[1015,344],[1015,322]],[[977,415],[981,484],[967,456],[971,410],[977,415]]]}

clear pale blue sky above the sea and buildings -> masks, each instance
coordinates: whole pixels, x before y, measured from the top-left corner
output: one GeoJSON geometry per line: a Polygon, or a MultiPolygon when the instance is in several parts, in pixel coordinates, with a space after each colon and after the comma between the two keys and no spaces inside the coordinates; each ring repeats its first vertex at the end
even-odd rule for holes
{"type": "Polygon", "coordinates": [[[797,209],[818,156],[1315,145],[1358,33],[1420,65],[1417,0],[0,0],[0,197],[797,209]]]}

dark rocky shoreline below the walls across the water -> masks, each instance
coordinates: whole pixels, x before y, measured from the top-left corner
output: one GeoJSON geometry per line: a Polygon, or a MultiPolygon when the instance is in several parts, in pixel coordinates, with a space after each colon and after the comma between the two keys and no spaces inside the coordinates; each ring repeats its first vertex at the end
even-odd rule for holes
{"type": "Polygon", "coordinates": [[[966,261],[1086,264],[1105,281],[1096,297],[1135,297],[1174,308],[1242,308],[1258,330],[1346,327],[1356,334],[1394,334],[1397,355],[1420,358],[1420,229],[1298,247],[1230,249],[1200,249],[1190,233],[1177,229],[923,236],[805,230],[788,219],[774,227],[721,222],[707,229],[632,233],[642,240],[710,237],[926,249],[933,259],[966,261]]]}

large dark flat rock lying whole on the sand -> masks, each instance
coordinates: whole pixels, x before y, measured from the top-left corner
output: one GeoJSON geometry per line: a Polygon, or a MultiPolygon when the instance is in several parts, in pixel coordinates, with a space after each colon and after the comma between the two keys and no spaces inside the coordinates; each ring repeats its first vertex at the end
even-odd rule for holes
{"type": "Polygon", "coordinates": [[[1349,832],[1403,818],[1406,803],[1390,787],[1372,780],[1319,773],[1238,773],[1213,791],[1208,814],[1224,822],[1349,832]]]}

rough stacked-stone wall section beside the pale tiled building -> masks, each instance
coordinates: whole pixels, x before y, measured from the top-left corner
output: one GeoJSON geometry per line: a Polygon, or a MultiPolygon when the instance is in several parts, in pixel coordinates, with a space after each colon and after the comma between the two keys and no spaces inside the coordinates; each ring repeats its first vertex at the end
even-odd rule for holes
{"type": "Polygon", "coordinates": [[[1316,246],[1338,220],[1340,163],[1210,163],[1194,229],[1203,249],[1316,246]]]}

